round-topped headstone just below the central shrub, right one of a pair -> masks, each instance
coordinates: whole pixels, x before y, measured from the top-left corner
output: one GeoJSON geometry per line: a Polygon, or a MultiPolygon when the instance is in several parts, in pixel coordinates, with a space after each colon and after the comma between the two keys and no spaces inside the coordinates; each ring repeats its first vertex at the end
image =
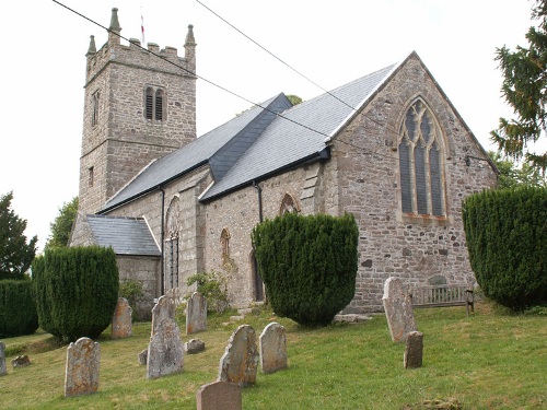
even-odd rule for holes
{"type": "Polygon", "coordinates": [[[260,366],[264,373],[275,373],[287,367],[287,336],[278,323],[266,326],[260,333],[260,366]]]}

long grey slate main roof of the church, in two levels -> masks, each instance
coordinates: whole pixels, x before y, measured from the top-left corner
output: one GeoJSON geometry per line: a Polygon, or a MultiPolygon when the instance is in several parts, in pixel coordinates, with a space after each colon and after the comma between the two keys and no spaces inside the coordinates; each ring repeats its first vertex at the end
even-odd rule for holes
{"type": "Polygon", "coordinates": [[[325,139],[334,137],[397,67],[388,66],[294,107],[283,94],[272,97],[260,104],[267,109],[255,106],[150,164],[102,212],[205,164],[209,164],[214,184],[201,196],[202,201],[303,161],[325,159],[325,139]]]}

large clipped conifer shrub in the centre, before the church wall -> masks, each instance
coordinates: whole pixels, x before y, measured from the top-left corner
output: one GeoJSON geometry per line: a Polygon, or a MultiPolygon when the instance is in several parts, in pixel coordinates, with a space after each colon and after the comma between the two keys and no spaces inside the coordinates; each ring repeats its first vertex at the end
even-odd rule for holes
{"type": "Polygon", "coordinates": [[[252,239],[276,314],[325,326],[353,298],[359,230],[352,214],[286,213],[255,226],[252,239]]]}

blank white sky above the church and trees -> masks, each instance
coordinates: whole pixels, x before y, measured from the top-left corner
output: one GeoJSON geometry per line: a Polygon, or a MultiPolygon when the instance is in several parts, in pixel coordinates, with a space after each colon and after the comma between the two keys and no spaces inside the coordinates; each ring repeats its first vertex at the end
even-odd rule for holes
{"type": "MultiPolygon", "coordinates": [[[[489,132],[499,117],[512,115],[500,93],[496,48],[527,46],[534,24],[527,0],[59,3],[103,26],[118,8],[126,38],[141,39],[142,16],[144,42],[175,47],[179,56],[193,24],[198,136],[280,92],[310,99],[415,50],[486,150],[494,150],[489,132]]],[[[85,52],[90,35],[97,49],[107,39],[103,28],[59,3],[7,2],[0,24],[0,195],[13,191],[12,209],[27,221],[26,236],[38,236],[38,251],[59,208],[78,196],[85,52]]]]}

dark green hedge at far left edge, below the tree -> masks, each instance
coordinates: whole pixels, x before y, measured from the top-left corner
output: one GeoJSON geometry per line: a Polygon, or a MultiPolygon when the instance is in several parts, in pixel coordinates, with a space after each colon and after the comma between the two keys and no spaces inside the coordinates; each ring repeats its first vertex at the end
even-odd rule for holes
{"type": "Polygon", "coordinates": [[[37,328],[31,280],[0,281],[0,338],[32,335],[37,328]]]}

